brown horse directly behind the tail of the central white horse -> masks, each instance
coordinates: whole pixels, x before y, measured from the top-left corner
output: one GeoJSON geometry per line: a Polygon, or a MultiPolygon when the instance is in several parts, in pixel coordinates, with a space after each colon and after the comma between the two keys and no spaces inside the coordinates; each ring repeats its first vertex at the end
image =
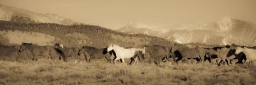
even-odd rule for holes
{"type": "Polygon", "coordinates": [[[148,63],[154,62],[157,66],[159,66],[161,62],[166,62],[165,59],[168,59],[170,56],[169,48],[162,45],[147,45],[143,49],[145,55],[148,54],[148,57],[145,58],[149,59],[148,63]]]}

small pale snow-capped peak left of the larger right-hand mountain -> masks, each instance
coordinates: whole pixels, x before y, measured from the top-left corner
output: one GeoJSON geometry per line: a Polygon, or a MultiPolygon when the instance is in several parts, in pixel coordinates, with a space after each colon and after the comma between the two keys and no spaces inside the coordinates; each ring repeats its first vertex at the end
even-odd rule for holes
{"type": "Polygon", "coordinates": [[[124,27],[120,27],[119,29],[116,29],[116,31],[121,31],[129,34],[141,33],[141,34],[152,35],[152,36],[161,36],[163,34],[161,31],[154,30],[154,28],[155,28],[154,26],[147,26],[145,24],[140,24],[138,22],[130,22],[124,27]]]}

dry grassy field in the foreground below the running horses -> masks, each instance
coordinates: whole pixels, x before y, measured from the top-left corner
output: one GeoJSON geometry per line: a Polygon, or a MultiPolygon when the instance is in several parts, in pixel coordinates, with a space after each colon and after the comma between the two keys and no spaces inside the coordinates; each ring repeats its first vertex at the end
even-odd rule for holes
{"type": "Polygon", "coordinates": [[[256,84],[255,65],[0,61],[0,84],[256,84]]]}

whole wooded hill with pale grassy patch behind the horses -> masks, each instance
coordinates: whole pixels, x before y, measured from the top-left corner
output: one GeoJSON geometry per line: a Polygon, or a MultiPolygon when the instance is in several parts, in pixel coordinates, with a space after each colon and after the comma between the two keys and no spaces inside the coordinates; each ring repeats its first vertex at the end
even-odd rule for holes
{"type": "Polygon", "coordinates": [[[106,47],[110,43],[124,47],[142,47],[153,44],[172,45],[172,42],[156,36],[128,35],[92,25],[64,26],[0,21],[0,35],[1,43],[6,45],[20,45],[21,42],[37,45],[53,45],[55,42],[60,42],[67,47],[81,47],[83,45],[106,47]]]}

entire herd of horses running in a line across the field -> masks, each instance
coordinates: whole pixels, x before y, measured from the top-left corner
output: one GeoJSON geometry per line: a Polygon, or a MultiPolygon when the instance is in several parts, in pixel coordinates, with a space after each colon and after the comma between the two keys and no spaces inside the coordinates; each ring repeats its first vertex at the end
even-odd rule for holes
{"type": "Polygon", "coordinates": [[[164,62],[196,63],[209,61],[216,65],[230,65],[233,61],[237,65],[251,63],[256,60],[255,47],[245,47],[241,45],[225,45],[218,47],[200,47],[191,45],[174,44],[172,47],[163,45],[145,45],[142,48],[121,47],[119,45],[108,45],[105,48],[83,46],[81,48],[65,47],[61,43],[54,46],[34,45],[32,43],[22,43],[22,45],[0,44],[0,58],[3,56],[15,56],[19,59],[21,52],[29,53],[31,60],[37,61],[41,58],[59,59],[65,62],[79,60],[90,62],[92,59],[104,59],[108,63],[120,61],[125,63],[129,59],[129,65],[140,62],[156,63],[164,62]]]}

